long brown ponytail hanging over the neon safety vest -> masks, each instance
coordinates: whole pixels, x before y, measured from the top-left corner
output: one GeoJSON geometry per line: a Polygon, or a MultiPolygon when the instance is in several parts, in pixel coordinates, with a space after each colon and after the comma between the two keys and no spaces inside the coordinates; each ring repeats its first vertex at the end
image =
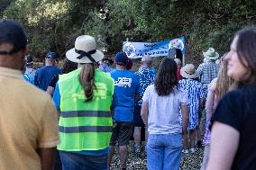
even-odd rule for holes
{"type": "Polygon", "coordinates": [[[87,97],[85,102],[91,101],[94,97],[94,88],[96,88],[95,69],[93,63],[83,64],[78,80],[80,85],[84,88],[85,95],[87,97]]]}

